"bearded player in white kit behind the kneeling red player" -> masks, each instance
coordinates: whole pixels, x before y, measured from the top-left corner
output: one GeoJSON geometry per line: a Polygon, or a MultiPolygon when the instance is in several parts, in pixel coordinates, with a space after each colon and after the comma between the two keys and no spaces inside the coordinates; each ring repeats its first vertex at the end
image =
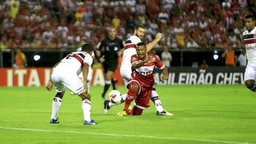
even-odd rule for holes
{"type": "MultiPolygon", "coordinates": [[[[143,40],[145,34],[145,27],[141,24],[136,25],[135,30],[134,30],[134,35],[128,38],[125,48],[124,48],[124,53],[123,53],[123,59],[122,59],[122,64],[120,68],[120,73],[122,78],[124,79],[124,84],[125,86],[127,85],[129,79],[131,78],[131,56],[134,54],[137,54],[136,52],[136,45],[143,40]]],[[[158,41],[161,40],[163,37],[163,34],[160,32],[155,35],[155,40],[152,41],[150,44],[147,45],[147,52],[150,51],[158,41]]],[[[126,99],[126,94],[122,95],[122,100],[119,103],[120,104],[125,102],[126,99]]],[[[158,97],[157,91],[155,90],[155,87],[153,86],[152,93],[150,96],[150,99],[154,102],[155,107],[157,109],[157,115],[173,115],[166,110],[163,109],[162,103],[160,101],[160,98],[158,97]]],[[[108,112],[111,106],[116,105],[114,103],[109,103],[108,100],[104,101],[104,114],[108,112]]]]}

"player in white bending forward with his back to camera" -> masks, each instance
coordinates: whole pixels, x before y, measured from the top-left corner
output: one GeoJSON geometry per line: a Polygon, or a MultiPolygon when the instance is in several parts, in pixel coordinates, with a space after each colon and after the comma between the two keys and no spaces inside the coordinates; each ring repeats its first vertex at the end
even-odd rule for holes
{"type": "Polygon", "coordinates": [[[82,98],[83,124],[97,124],[91,119],[91,96],[88,93],[87,76],[89,66],[92,65],[92,45],[84,44],[81,52],[71,52],[52,69],[46,90],[51,91],[54,83],[56,96],[52,102],[52,116],[50,123],[59,123],[57,114],[65,94],[65,87],[82,98]],[[78,78],[83,73],[83,81],[78,78]]]}

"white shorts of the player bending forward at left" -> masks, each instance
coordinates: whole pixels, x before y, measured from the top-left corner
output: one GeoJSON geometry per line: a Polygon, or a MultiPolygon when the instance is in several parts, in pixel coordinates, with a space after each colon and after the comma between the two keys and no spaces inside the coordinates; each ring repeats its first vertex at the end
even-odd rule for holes
{"type": "Polygon", "coordinates": [[[52,82],[58,93],[65,91],[65,86],[73,93],[80,94],[83,92],[83,82],[78,78],[76,73],[63,71],[61,69],[53,69],[52,82]]]}

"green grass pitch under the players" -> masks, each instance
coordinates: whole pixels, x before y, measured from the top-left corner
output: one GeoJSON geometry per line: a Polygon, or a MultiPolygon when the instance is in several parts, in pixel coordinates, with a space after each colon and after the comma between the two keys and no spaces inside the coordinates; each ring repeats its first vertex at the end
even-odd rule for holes
{"type": "MultiPolygon", "coordinates": [[[[164,109],[174,116],[157,116],[152,102],[142,116],[116,116],[124,104],[104,115],[103,86],[91,86],[91,119],[99,124],[83,125],[82,100],[69,90],[59,109],[60,123],[50,124],[54,88],[47,92],[44,87],[0,87],[0,143],[256,143],[256,93],[245,85],[171,85],[156,89],[164,109]]],[[[118,90],[126,92],[124,86],[118,86],[118,90]]]]}

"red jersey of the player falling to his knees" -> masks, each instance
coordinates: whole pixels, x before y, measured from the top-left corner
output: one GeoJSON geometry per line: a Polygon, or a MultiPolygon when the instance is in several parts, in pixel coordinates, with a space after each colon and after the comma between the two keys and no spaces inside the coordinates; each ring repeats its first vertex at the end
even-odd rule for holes
{"type": "MultiPolygon", "coordinates": [[[[135,69],[134,67],[132,67],[131,76],[132,79],[137,80],[141,86],[151,88],[155,83],[153,75],[155,71],[155,66],[157,66],[160,69],[163,69],[164,64],[155,55],[147,53],[147,57],[148,56],[152,56],[152,61],[145,63],[140,68],[135,69]]],[[[142,60],[138,57],[137,54],[131,56],[131,64],[141,61],[142,60]]]]}

